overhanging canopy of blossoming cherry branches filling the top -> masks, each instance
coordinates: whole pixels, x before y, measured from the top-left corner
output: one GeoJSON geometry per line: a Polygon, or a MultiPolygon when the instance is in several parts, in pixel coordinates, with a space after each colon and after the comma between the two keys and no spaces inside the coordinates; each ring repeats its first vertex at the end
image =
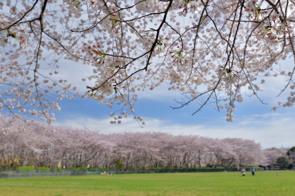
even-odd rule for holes
{"type": "Polygon", "coordinates": [[[196,100],[197,112],[214,103],[232,121],[242,87],[263,103],[258,91],[265,80],[257,76],[278,75],[286,79],[282,92],[291,92],[272,110],[293,106],[294,65],[276,64],[295,61],[294,6],[290,0],[1,1],[0,108],[50,124],[50,111],[60,110],[56,99],[87,96],[109,108],[122,103],[111,123],[132,114],[144,124],[134,113],[137,91],[165,82],[187,98],[175,108],[196,100]],[[80,95],[66,78],[57,79],[60,58],[94,66],[82,80],[94,78],[95,85],[80,95]]]}

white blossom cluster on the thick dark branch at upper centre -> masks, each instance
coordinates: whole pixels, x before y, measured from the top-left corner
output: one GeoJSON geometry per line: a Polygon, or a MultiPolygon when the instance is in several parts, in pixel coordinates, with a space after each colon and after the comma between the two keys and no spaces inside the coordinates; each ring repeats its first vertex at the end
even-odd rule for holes
{"type": "Polygon", "coordinates": [[[144,44],[143,49],[145,49],[145,51],[147,52],[150,51],[154,42],[156,41],[156,46],[154,48],[152,56],[159,55],[159,57],[162,57],[165,55],[165,52],[168,50],[168,40],[169,38],[164,38],[164,35],[160,35],[157,41],[151,38],[150,36],[145,36],[145,38],[143,38],[143,44],[144,44]]]}

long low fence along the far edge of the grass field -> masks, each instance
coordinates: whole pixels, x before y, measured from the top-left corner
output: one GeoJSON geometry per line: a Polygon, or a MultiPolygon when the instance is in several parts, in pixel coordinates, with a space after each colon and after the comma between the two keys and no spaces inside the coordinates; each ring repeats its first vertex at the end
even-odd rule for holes
{"type": "MultiPolygon", "coordinates": [[[[241,168],[240,168],[241,169],[241,168]]],[[[250,168],[246,168],[249,171],[250,168]]],[[[264,171],[263,167],[255,168],[256,171],[264,171]]],[[[237,168],[155,168],[146,170],[127,169],[0,169],[0,178],[21,177],[47,177],[47,176],[77,176],[77,175],[101,175],[107,174],[133,174],[133,173],[175,173],[175,172],[237,172],[237,168]]]]}

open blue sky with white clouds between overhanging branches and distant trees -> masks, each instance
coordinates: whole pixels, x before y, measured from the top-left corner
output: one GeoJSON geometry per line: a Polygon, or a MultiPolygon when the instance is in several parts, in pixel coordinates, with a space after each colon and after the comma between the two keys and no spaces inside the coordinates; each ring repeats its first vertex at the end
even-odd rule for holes
{"type": "MultiPolygon", "coordinates": [[[[59,75],[67,78],[73,85],[78,86],[82,93],[85,86],[94,83],[94,80],[82,82],[81,78],[91,73],[92,67],[74,62],[65,62],[65,66],[59,68],[59,75]],[[72,70],[72,71],[70,71],[72,70]]],[[[215,105],[209,104],[202,108],[201,112],[191,116],[199,106],[196,102],[180,109],[173,110],[174,101],[182,98],[179,91],[168,91],[167,86],[162,84],[153,91],[146,89],[138,92],[138,101],[134,103],[136,115],[144,118],[146,124],[140,128],[137,121],[132,118],[123,118],[121,124],[111,125],[113,120],[111,112],[116,108],[108,108],[97,101],[87,98],[63,99],[59,101],[60,111],[55,111],[57,120],[53,125],[70,125],[72,127],[88,127],[90,130],[99,130],[101,133],[123,133],[136,131],[162,131],[175,135],[201,135],[212,138],[245,138],[260,142],[263,148],[291,147],[295,145],[295,111],[292,108],[278,108],[276,112],[270,109],[279,100],[284,101],[289,94],[289,89],[283,95],[276,97],[279,90],[286,83],[285,78],[263,78],[266,83],[261,85],[261,99],[268,105],[262,105],[260,101],[250,94],[247,88],[242,89],[244,101],[236,103],[234,122],[225,120],[225,110],[215,109],[215,105]]],[[[258,79],[260,80],[260,79],[258,79]]]]}

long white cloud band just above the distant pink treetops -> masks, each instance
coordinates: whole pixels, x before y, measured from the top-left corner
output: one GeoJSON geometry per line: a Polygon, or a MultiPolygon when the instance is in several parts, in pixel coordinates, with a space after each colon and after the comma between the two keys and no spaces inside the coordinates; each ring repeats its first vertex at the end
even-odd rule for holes
{"type": "Polygon", "coordinates": [[[145,118],[144,128],[140,128],[133,118],[122,119],[121,124],[111,125],[113,118],[71,118],[54,125],[71,125],[72,127],[88,127],[100,130],[100,133],[123,133],[142,131],[161,131],[173,135],[200,135],[211,138],[244,138],[260,142],[263,148],[294,146],[294,113],[286,115],[268,113],[264,115],[245,116],[237,123],[212,122],[208,124],[188,125],[172,123],[168,120],[145,118]]]}

